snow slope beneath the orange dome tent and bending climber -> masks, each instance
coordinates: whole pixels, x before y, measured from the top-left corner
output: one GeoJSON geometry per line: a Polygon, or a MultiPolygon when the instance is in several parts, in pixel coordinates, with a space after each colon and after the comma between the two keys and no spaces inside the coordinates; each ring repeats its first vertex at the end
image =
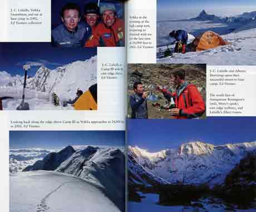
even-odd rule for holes
{"type": "Polygon", "coordinates": [[[229,33],[222,37],[230,44],[201,52],[173,53],[170,57],[157,59],[157,63],[256,64],[256,28],[229,33]]]}

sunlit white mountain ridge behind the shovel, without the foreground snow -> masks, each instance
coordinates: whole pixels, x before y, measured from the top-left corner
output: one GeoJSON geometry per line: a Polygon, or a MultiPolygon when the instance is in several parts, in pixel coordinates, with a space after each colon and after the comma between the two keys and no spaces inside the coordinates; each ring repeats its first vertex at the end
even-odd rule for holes
{"type": "MultiPolygon", "coordinates": [[[[22,76],[12,77],[4,72],[1,72],[1,75],[4,80],[1,80],[0,86],[6,90],[5,93],[17,93],[17,90],[22,90],[24,80],[22,76]]],[[[77,88],[85,91],[96,82],[97,56],[94,56],[85,61],[77,60],[52,70],[42,66],[35,76],[27,78],[26,88],[27,93],[55,92],[61,98],[68,99],[75,96],[77,88]]]]}

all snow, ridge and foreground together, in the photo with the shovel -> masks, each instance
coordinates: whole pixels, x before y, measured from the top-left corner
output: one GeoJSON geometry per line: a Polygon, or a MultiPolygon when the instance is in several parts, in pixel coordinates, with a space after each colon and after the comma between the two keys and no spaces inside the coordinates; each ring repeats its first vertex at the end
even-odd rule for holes
{"type": "MultiPolygon", "coordinates": [[[[7,72],[0,72],[0,97],[10,96],[14,99],[3,101],[4,110],[15,110],[21,103],[23,77],[12,77],[7,72]]],[[[51,94],[55,92],[63,100],[76,97],[78,88],[85,92],[92,84],[97,83],[97,57],[50,70],[40,67],[35,76],[27,79],[25,100],[32,110],[35,109],[73,109],[72,107],[55,107],[51,103],[51,94]]]]}

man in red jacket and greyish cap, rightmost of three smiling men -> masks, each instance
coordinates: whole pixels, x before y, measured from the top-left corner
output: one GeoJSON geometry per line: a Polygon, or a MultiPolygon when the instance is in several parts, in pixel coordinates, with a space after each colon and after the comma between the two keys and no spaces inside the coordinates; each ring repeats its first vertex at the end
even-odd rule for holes
{"type": "Polygon", "coordinates": [[[125,23],[117,18],[115,4],[106,3],[100,7],[102,22],[93,30],[85,47],[125,46],[125,23]]]}

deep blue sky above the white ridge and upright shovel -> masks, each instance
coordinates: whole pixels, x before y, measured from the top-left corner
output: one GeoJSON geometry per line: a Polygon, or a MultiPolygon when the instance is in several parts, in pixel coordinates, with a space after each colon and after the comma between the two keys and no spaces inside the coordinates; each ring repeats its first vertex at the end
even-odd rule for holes
{"type": "Polygon", "coordinates": [[[54,69],[76,60],[86,60],[97,54],[96,48],[53,48],[51,43],[1,43],[0,71],[24,75],[22,65],[33,63],[28,75],[35,75],[42,64],[54,69]]]}

